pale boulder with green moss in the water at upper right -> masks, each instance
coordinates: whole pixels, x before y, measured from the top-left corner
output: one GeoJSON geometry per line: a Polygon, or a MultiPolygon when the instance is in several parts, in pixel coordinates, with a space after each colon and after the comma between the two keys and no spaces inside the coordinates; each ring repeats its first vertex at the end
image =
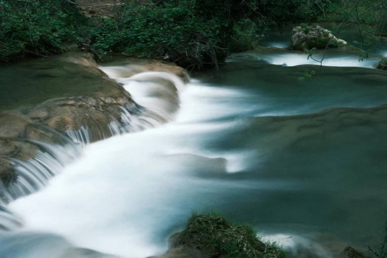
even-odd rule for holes
{"type": "Polygon", "coordinates": [[[293,36],[291,38],[289,49],[311,49],[338,47],[346,45],[344,40],[340,40],[332,35],[332,33],[319,25],[312,26],[297,26],[293,28],[293,36]]]}

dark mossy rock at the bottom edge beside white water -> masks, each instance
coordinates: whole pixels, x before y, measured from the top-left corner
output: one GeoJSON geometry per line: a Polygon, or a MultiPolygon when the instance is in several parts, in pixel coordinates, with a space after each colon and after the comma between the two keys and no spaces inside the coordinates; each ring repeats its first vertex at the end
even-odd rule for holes
{"type": "Polygon", "coordinates": [[[187,228],[173,234],[169,242],[169,251],[158,258],[285,257],[260,241],[251,227],[231,225],[219,215],[189,218],[187,228]]]}

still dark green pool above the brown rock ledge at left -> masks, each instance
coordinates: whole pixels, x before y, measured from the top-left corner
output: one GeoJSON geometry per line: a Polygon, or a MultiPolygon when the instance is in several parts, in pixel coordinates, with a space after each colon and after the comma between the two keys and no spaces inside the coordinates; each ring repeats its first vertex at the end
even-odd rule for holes
{"type": "Polygon", "coordinates": [[[1,64],[0,111],[111,89],[101,71],[72,63],[71,55],[1,64]]]}

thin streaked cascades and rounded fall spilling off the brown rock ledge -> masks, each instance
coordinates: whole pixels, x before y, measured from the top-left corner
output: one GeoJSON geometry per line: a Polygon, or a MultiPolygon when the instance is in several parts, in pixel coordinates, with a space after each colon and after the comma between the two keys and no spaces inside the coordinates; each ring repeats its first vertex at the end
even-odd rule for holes
{"type": "MultiPolygon", "coordinates": [[[[114,71],[114,68],[110,71],[114,71]]],[[[114,72],[111,74],[117,75],[114,72]]],[[[133,94],[133,99],[142,105],[134,102],[122,107],[121,121],[112,121],[109,124],[111,135],[102,133],[101,138],[154,128],[172,121],[179,108],[179,91],[184,89],[180,78],[166,72],[145,72],[130,78],[113,79],[121,82],[133,94]]],[[[57,143],[51,145],[35,140],[23,140],[37,146],[39,150],[34,158],[27,161],[10,161],[8,168],[17,175],[17,179],[7,186],[0,182],[0,230],[14,230],[23,224],[18,216],[7,210],[7,203],[45,187],[64,166],[78,159],[82,155],[82,148],[91,142],[91,133],[87,126],[81,126],[77,130],[65,130],[64,134],[51,128],[36,125],[34,127],[52,135],[52,139],[57,143]]]]}

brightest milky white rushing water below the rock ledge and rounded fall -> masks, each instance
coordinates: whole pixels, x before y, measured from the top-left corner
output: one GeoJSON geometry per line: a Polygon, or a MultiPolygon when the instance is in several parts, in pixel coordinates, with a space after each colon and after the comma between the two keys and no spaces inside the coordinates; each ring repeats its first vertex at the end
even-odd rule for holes
{"type": "MultiPolygon", "coordinates": [[[[152,80],[160,75],[174,79],[173,84],[180,91],[183,89],[181,83],[176,84],[179,81],[175,77],[165,73],[140,74],[119,82],[140,105],[172,120],[180,100],[171,88],[167,88],[168,102],[155,93],[160,85],[152,80]],[[138,83],[139,78],[147,78],[149,83],[138,83]],[[152,101],[155,96],[157,99],[152,101]]],[[[82,159],[67,166],[51,180],[49,187],[10,204],[13,212],[23,214],[22,231],[60,234],[77,246],[123,257],[163,253],[166,241],[158,236],[159,231],[168,225],[172,227],[173,218],[187,216],[195,206],[190,202],[182,206],[181,202],[189,200],[198,188],[215,194],[216,189],[225,185],[242,187],[190,176],[211,172],[216,177],[217,173],[238,172],[245,169],[246,159],[254,158],[255,153],[249,151],[222,154],[199,148],[202,135],[216,138],[222,130],[240,126],[241,121],[197,122],[244,112],[244,108],[225,112],[227,103],[217,106],[213,101],[219,96],[240,98],[240,94],[232,89],[189,85],[175,122],[87,145],[82,159]],[[189,168],[198,162],[201,167],[189,168]],[[181,173],[185,168],[189,168],[188,173],[181,173]]],[[[263,182],[261,187],[269,186],[263,182]]]]}

